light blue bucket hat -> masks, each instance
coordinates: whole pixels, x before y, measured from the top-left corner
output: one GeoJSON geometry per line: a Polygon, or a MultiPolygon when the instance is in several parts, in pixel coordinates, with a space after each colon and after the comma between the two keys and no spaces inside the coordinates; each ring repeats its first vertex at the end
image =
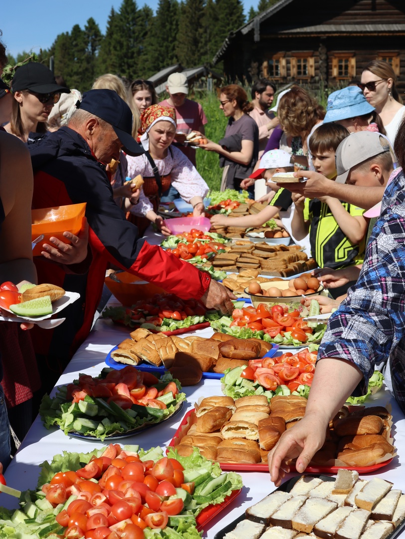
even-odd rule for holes
{"type": "Polygon", "coordinates": [[[371,113],[374,107],[366,100],[363,92],[357,86],[347,86],[342,90],[332,92],[328,97],[324,123],[356,118],[371,113]]]}

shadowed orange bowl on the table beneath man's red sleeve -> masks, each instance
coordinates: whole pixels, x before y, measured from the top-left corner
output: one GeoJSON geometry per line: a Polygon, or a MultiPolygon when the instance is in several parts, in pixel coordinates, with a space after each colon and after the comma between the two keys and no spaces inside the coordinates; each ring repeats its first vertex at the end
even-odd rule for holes
{"type": "Polygon", "coordinates": [[[154,294],[166,294],[163,288],[143,281],[132,273],[119,272],[114,275],[120,282],[106,277],[105,285],[123,305],[130,307],[139,300],[152,298],[154,294]]]}

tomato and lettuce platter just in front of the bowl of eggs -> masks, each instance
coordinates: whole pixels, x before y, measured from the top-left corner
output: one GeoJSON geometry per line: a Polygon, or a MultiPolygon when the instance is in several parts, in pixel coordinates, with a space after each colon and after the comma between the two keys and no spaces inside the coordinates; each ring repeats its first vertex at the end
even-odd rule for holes
{"type": "Polygon", "coordinates": [[[321,342],[326,324],[305,321],[299,310],[288,311],[288,305],[236,308],[232,316],[211,322],[212,329],[237,338],[256,337],[278,344],[279,348],[302,348],[321,342]]]}

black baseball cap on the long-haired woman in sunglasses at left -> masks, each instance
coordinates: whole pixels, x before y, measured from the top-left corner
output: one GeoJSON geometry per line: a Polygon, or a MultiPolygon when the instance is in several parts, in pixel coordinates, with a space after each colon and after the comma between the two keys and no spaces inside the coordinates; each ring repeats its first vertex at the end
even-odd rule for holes
{"type": "Polygon", "coordinates": [[[55,77],[50,69],[38,62],[29,62],[18,67],[13,80],[11,81],[11,91],[31,90],[39,94],[60,92],[69,94],[69,88],[56,84],[55,77]]]}

